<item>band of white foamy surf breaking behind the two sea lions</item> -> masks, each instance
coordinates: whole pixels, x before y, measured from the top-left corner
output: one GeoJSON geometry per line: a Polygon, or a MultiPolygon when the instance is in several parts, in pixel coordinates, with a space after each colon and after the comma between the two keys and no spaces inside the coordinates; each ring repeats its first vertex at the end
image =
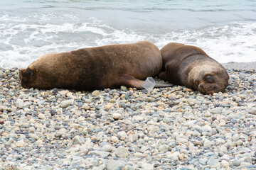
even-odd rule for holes
{"type": "Polygon", "coordinates": [[[0,30],[3,30],[0,35],[0,67],[27,67],[47,53],[139,40],[149,40],[159,48],[169,42],[196,45],[222,63],[256,62],[256,23],[152,33],[131,28],[119,29],[97,18],[88,18],[85,23],[47,24],[18,22],[19,19],[6,15],[0,17],[0,30]],[[8,19],[10,22],[6,22],[8,19]]]}

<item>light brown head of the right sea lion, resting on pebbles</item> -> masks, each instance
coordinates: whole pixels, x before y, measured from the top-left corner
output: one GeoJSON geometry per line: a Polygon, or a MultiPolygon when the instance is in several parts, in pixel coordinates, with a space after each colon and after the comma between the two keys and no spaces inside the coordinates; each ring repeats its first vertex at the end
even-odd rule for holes
{"type": "Polygon", "coordinates": [[[191,88],[200,91],[201,94],[224,92],[228,86],[228,79],[227,71],[217,62],[203,62],[191,69],[188,74],[191,88]]]}

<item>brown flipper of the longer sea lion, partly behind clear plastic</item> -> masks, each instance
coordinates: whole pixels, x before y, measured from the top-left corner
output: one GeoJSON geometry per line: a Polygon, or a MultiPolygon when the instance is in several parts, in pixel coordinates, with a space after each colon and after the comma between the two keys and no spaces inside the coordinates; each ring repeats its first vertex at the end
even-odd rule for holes
{"type": "MultiPolygon", "coordinates": [[[[124,86],[129,86],[129,87],[135,87],[136,89],[145,89],[142,84],[144,83],[143,80],[135,79],[132,76],[125,76],[122,77],[122,85],[124,86]]],[[[174,86],[173,84],[164,84],[164,83],[156,83],[154,85],[154,88],[159,88],[159,87],[170,87],[174,86]]]]}

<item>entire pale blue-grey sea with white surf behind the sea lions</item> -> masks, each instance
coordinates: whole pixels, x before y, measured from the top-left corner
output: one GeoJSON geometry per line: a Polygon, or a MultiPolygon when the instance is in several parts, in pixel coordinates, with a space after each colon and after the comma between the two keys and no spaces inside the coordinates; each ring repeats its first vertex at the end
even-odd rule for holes
{"type": "Polygon", "coordinates": [[[221,63],[256,62],[256,0],[0,1],[0,67],[139,40],[196,45],[221,63]]]}

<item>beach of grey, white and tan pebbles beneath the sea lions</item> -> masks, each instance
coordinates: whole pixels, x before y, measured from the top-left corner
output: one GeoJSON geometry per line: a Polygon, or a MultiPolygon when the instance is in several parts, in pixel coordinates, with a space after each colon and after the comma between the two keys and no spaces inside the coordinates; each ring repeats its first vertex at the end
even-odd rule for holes
{"type": "MultiPolygon", "coordinates": [[[[0,69],[0,169],[256,169],[256,72],[225,93],[23,89],[0,69]]],[[[160,81],[160,80],[157,80],[160,81]]]]}

